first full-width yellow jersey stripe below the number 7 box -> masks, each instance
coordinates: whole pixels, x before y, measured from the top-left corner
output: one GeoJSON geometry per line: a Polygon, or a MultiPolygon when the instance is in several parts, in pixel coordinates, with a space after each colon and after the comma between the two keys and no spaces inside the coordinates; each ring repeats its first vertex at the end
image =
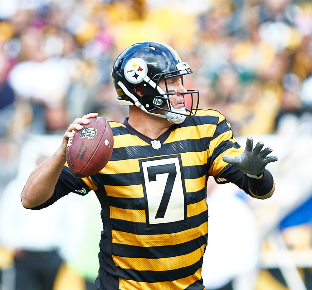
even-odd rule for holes
{"type": "Polygon", "coordinates": [[[199,238],[202,235],[206,235],[207,226],[208,221],[204,222],[199,227],[168,235],[135,235],[122,231],[112,231],[112,237],[113,243],[132,246],[157,247],[178,245],[199,238]]]}

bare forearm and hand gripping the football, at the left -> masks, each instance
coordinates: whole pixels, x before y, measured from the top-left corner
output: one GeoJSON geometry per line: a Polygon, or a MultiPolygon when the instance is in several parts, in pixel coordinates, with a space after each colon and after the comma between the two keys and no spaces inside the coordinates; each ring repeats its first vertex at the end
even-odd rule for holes
{"type": "Polygon", "coordinates": [[[33,208],[46,202],[54,193],[54,188],[66,162],[66,146],[68,139],[74,137],[72,131],[81,130],[81,124],[88,124],[89,118],[96,117],[97,113],[90,113],[69,125],[58,150],[42,162],[30,174],[21,194],[23,207],[33,208]]]}

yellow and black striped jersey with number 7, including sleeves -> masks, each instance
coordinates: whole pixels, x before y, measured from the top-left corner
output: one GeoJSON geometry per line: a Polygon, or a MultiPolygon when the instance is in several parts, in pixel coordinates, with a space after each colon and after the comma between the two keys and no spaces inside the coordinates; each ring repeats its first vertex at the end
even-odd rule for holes
{"type": "Polygon", "coordinates": [[[90,189],[99,198],[103,231],[97,289],[204,289],[207,178],[227,180],[222,172],[229,165],[222,155],[243,151],[229,123],[217,111],[198,110],[157,140],[126,120],[110,126],[114,150],[105,168],[80,179],[65,166],[48,201],[90,189]]]}

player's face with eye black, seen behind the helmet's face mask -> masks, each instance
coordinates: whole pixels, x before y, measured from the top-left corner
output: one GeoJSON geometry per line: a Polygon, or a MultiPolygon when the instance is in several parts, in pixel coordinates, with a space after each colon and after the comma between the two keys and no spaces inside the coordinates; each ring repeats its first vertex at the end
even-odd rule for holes
{"type": "MultiPolygon", "coordinates": [[[[161,79],[159,82],[159,87],[161,87],[164,92],[186,92],[186,89],[183,87],[182,84],[182,76],[167,78],[166,82],[167,88],[164,79],[161,79]]],[[[184,107],[184,94],[170,95],[169,99],[173,108],[181,109],[184,107]]]]}

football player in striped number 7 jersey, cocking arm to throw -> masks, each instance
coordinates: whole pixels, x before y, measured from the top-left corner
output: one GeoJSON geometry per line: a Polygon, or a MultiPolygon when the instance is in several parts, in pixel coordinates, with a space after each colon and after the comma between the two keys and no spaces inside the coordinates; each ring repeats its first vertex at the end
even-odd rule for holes
{"type": "Polygon", "coordinates": [[[267,156],[252,138],[243,149],[226,118],[199,110],[199,93],[183,86],[192,73],[169,45],[143,41],[129,46],[112,69],[117,101],[129,106],[122,124],[111,121],[114,150],[98,174],[76,178],[66,164],[72,130],[56,153],[30,175],[24,207],[41,209],[74,192],[94,190],[101,204],[97,289],[204,289],[202,259],[207,245],[208,177],[235,183],[252,197],[271,197],[275,185],[267,156]],[[189,105],[186,106],[185,103],[189,105]]]}

